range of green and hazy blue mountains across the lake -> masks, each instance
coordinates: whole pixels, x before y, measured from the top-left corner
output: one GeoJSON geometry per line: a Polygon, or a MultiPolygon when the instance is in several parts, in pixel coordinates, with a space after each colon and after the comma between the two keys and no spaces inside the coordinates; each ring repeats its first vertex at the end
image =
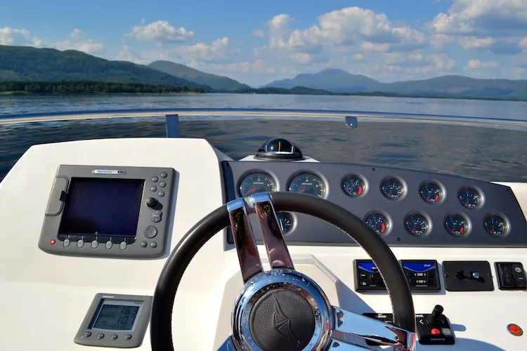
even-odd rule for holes
{"type": "Polygon", "coordinates": [[[80,51],[0,45],[0,81],[103,81],[160,84],[205,92],[315,93],[498,98],[527,100],[527,80],[474,79],[448,75],[382,83],[342,69],[299,74],[252,88],[228,77],[201,72],[170,61],[138,65],[111,61],[80,51]]]}

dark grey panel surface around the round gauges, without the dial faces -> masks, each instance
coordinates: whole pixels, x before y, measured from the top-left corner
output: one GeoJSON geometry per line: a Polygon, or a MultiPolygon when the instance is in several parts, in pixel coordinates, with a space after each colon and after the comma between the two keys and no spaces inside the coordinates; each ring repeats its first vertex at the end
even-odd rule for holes
{"type": "MultiPolygon", "coordinates": [[[[278,191],[282,192],[288,190],[289,183],[299,173],[314,173],[325,184],[325,199],[346,208],[363,220],[373,212],[384,214],[389,220],[391,230],[382,237],[391,246],[527,246],[527,223],[523,212],[512,190],[503,185],[398,168],[323,162],[223,161],[222,168],[227,201],[242,196],[240,183],[255,171],[270,175],[278,191]],[[348,176],[359,176],[365,182],[366,190],[362,196],[350,197],[344,192],[343,183],[348,176]],[[384,180],[393,178],[400,180],[405,187],[405,194],[396,200],[388,199],[382,192],[384,180]],[[440,185],[443,197],[441,201],[431,204],[421,196],[420,188],[428,182],[440,185]],[[466,187],[481,194],[481,202],[477,208],[466,208],[461,204],[460,192],[466,187]],[[407,230],[406,221],[412,213],[422,214],[428,220],[426,234],[415,236],[407,230]],[[459,235],[449,232],[446,225],[449,215],[463,216],[468,221],[464,227],[466,232],[457,233],[459,235]],[[490,215],[498,215],[505,219],[505,234],[500,237],[489,234],[488,227],[493,225],[493,221],[488,220],[490,215]]],[[[357,245],[341,230],[323,220],[300,213],[294,213],[292,218],[295,222],[292,230],[285,234],[289,243],[357,245]]],[[[261,235],[256,227],[253,225],[256,240],[261,242],[261,235]]],[[[227,241],[233,243],[230,233],[227,241]]]]}

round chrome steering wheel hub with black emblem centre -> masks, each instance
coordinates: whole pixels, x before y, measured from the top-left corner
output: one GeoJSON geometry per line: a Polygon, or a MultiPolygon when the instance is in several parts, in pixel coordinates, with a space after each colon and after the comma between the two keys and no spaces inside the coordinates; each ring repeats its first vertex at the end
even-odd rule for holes
{"type": "Polygon", "coordinates": [[[242,350],[313,350],[329,340],[331,305],[300,272],[276,269],[249,279],[235,302],[233,339],[242,350]]]}

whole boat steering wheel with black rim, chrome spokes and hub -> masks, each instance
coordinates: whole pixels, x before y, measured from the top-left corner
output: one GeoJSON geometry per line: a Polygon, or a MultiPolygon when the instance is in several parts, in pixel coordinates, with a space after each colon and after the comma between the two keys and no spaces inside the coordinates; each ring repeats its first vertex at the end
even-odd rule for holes
{"type": "Polygon", "coordinates": [[[401,266],[384,240],[360,218],[330,201],[292,192],[265,192],[235,199],[216,209],[190,229],[171,252],[154,293],[152,351],[174,350],[171,314],[183,272],[195,253],[228,225],[233,231],[245,285],[235,301],[233,333],[220,350],[364,350],[364,346],[337,339],[336,334],[415,350],[412,294],[401,266]],[[318,284],[294,270],[275,211],[320,218],[357,241],[382,274],[391,299],[393,324],[330,305],[318,284]],[[270,271],[263,271],[249,223],[250,213],[256,213],[258,218],[270,271]]]}

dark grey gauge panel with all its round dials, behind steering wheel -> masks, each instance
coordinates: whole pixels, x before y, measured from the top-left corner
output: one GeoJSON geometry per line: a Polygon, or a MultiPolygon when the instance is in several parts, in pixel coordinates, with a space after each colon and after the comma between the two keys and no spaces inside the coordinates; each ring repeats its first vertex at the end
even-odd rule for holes
{"type": "MultiPolygon", "coordinates": [[[[322,197],[365,220],[391,246],[526,247],[527,223],[504,185],[438,173],[338,163],[223,161],[227,201],[263,191],[322,197]]],[[[356,246],[338,228],[280,213],[288,243],[356,246]]],[[[256,240],[261,237],[254,227],[256,240]]],[[[228,234],[227,241],[233,239],[228,234]]]]}

